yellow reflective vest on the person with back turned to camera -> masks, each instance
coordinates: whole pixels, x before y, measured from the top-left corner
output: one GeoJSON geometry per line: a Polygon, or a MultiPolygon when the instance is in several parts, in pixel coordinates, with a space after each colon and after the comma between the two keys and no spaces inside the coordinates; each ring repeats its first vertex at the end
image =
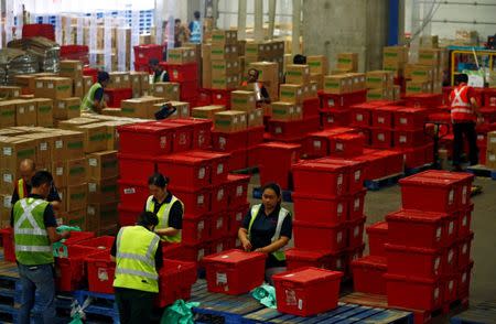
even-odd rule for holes
{"type": "Polygon", "coordinates": [[[155,252],[160,238],[143,226],[122,227],[116,240],[114,287],[159,292],[155,252]]]}

